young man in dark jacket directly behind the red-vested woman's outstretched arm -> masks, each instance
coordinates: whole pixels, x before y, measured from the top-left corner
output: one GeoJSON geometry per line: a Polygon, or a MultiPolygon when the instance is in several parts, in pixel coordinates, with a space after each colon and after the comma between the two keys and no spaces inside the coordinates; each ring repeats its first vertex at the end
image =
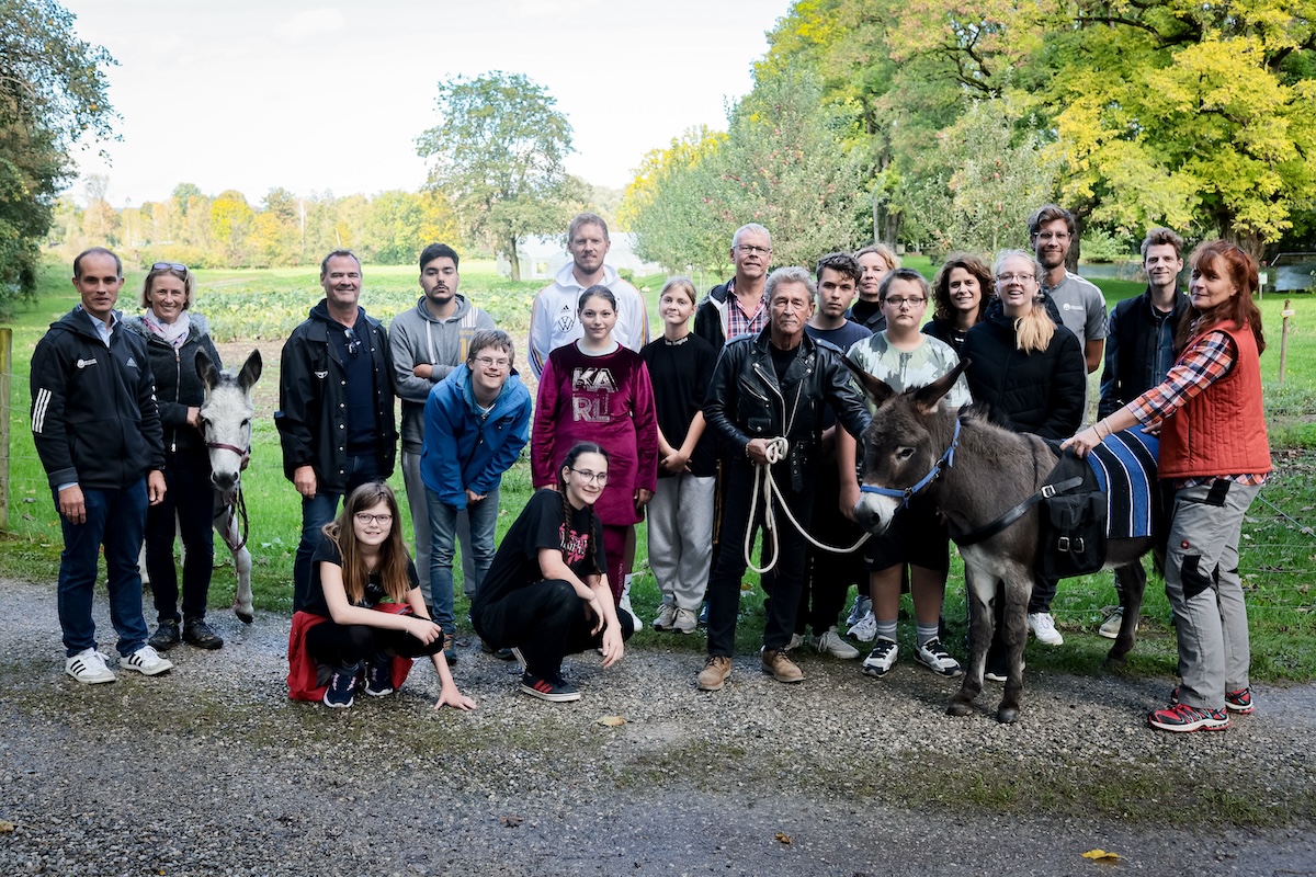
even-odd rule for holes
{"type": "MultiPolygon", "coordinates": [[[[1148,275],[1146,292],[1125,298],[1111,312],[1098,418],[1113,414],[1163,381],[1174,366],[1174,334],[1188,306],[1188,297],[1179,289],[1183,238],[1170,229],[1149,230],[1142,239],[1142,270],[1148,275]]],[[[1115,569],[1115,589],[1121,605],[1101,622],[1098,631],[1101,636],[1115,639],[1120,635],[1124,594],[1130,584],[1141,592],[1146,579],[1141,560],[1115,569]]]]}

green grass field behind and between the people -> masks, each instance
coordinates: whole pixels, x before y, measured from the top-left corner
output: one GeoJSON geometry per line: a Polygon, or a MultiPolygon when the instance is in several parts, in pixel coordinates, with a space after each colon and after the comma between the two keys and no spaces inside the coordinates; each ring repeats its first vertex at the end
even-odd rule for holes
{"type": "MultiPolygon", "coordinates": [[[[926,259],[908,258],[905,263],[932,273],[926,259]]],[[[497,323],[513,338],[525,338],[530,301],[540,281],[512,283],[499,277],[492,263],[465,262],[462,292],[480,308],[490,310],[497,323]]],[[[662,276],[637,277],[645,291],[649,314],[658,330],[657,293],[662,276]]],[[[278,391],[278,351],[287,333],[301,320],[320,296],[316,268],[274,271],[199,271],[196,308],[213,326],[225,362],[236,367],[251,347],[265,354],[265,373],[257,385],[258,417],[254,427],[251,468],[243,477],[251,510],[250,550],[254,559],[253,585],[258,609],[288,614],[291,611],[291,568],[300,530],[300,500],[283,479],[278,434],[272,422],[278,391]]],[[[129,276],[120,296],[126,312],[136,310],[141,275],[129,276]]],[[[1126,281],[1099,280],[1113,305],[1120,298],[1137,295],[1142,287],[1126,281]]],[[[412,306],[420,295],[416,271],[411,267],[372,267],[365,270],[362,304],[380,318],[412,306]]],[[[32,444],[28,425],[28,369],[33,346],[46,326],[67,312],[76,298],[67,280],[67,268],[50,267],[42,276],[38,300],[22,309],[9,325],[13,329],[12,408],[8,412],[12,438],[9,447],[9,518],[8,538],[0,542],[0,576],[53,580],[58,569],[61,547],[45,473],[32,444]]],[[[1316,571],[1316,538],[1312,523],[1316,515],[1316,298],[1295,298],[1296,316],[1291,321],[1287,344],[1287,371],[1280,383],[1279,348],[1282,301],[1261,302],[1270,347],[1262,358],[1271,443],[1277,448],[1279,469],[1261,500],[1253,506],[1245,527],[1246,550],[1242,572],[1249,586],[1249,614],[1253,622],[1254,671],[1263,680],[1316,678],[1316,622],[1312,609],[1316,597],[1309,581],[1316,571]]],[[[520,351],[519,351],[520,352],[520,351]]],[[[1092,379],[1094,397],[1096,376],[1092,379]]],[[[401,492],[401,475],[393,477],[401,492]]],[[[499,535],[515,519],[530,493],[529,467],[522,459],[504,480],[503,511],[499,535]]],[[[405,506],[404,506],[405,515],[405,506]]],[[[411,533],[409,521],[404,522],[411,533]]],[[[637,563],[644,567],[646,551],[644,529],[640,529],[637,563]]],[[[226,554],[217,551],[217,559],[226,554]]],[[[958,559],[953,561],[946,593],[948,618],[951,619],[951,643],[959,643],[963,579],[958,559]]],[[[753,584],[754,577],[749,581],[753,584]]],[[[226,606],[233,596],[230,568],[216,571],[212,604],[226,606]]],[[[637,611],[649,621],[659,600],[653,577],[646,572],[636,586],[637,611]]],[[[1101,606],[1115,600],[1109,575],[1067,580],[1055,601],[1055,614],[1066,635],[1066,648],[1030,647],[1029,667],[1061,668],[1091,672],[1100,665],[1109,643],[1095,635],[1101,606]]],[[[741,636],[744,650],[757,648],[762,630],[762,596],[747,590],[742,601],[741,636]]],[[[458,618],[466,606],[459,598],[458,618]]],[[[1130,671],[1173,673],[1174,638],[1170,610],[1159,580],[1148,588],[1141,642],[1130,660],[1130,671]]],[[[672,638],[646,630],[637,640],[641,646],[690,652],[703,651],[703,636],[672,638]]]]}

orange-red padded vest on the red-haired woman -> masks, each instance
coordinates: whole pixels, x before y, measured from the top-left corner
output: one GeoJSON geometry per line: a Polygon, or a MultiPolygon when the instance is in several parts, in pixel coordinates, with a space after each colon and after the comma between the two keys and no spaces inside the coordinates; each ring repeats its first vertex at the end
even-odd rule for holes
{"type": "MultiPolygon", "coordinates": [[[[1270,472],[1257,338],[1248,326],[1211,327],[1216,329],[1233,338],[1238,358],[1228,375],[1194,396],[1161,426],[1162,479],[1270,472]]],[[[1184,351],[1204,334],[1188,341],[1184,351]]]]}

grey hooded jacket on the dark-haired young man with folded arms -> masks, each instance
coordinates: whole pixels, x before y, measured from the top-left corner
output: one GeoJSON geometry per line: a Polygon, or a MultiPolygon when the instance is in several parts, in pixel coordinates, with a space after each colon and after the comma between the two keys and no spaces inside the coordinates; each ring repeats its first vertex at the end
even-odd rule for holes
{"type": "Polygon", "coordinates": [[[403,450],[408,454],[421,452],[429,392],[466,362],[471,335],[494,329],[494,318],[472,306],[466,296],[454,293],[453,300],[457,309],[447,320],[429,313],[429,302],[421,296],[415,308],[393,317],[388,327],[393,389],[403,400],[403,450]],[[413,369],[420,363],[434,369],[429,377],[416,377],[413,369]]]}

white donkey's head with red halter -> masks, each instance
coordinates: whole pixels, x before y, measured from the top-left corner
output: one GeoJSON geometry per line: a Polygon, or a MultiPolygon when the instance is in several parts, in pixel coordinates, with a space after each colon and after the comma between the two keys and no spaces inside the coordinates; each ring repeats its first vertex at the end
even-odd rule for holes
{"type": "Polygon", "coordinates": [[[197,351],[196,373],[205,385],[201,433],[211,454],[211,481],[220,498],[232,504],[251,456],[251,418],[255,417],[251,385],[261,377],[261,351],[251,351],[237,376],[221,372],[205,351],[197,351]]]}

